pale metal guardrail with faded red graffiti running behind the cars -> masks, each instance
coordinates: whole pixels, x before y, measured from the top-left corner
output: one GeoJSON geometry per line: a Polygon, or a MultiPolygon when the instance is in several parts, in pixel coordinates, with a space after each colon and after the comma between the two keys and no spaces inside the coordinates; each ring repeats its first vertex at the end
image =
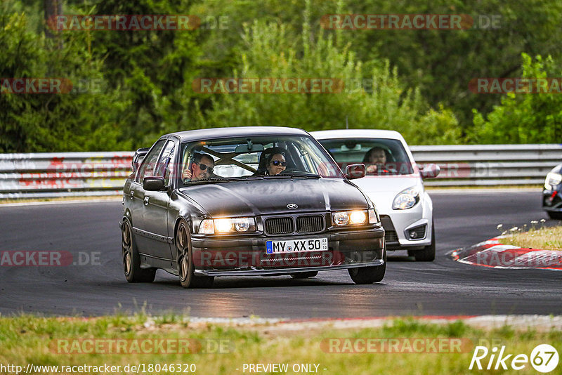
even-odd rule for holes
{"type": "MultiPolygon", "coordinates": [[[[428,186],[540,185],[562,162],[562,145],[410,147],[418,164],[436,163],[428,186]]],[[[133,152],[0,154],[0,198],[120,195],[133,152]]]]}

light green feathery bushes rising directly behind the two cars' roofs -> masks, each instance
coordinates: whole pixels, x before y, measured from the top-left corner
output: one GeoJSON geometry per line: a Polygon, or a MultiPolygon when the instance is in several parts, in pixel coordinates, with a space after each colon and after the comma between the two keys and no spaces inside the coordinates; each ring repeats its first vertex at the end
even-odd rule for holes
{"type": "Polygon", "coordinates": [[[218,94],[204,113],[204,126],[275,125],[315,131],[342,129],[347,119],[353,129],[393,129],[412,143],[458,140],[452,113],[443,107],[428,109],[419,91],[405,88],[388,61],[372,64],[367,75],[348,46],[336,47],[332,37],[319,32],[314,40],[303,27],[295,43],[287,34],[285,24],[256,20],[245,27],[242,67],[235,77],[334,77],[344,81],[344,91],[218,94]]]}

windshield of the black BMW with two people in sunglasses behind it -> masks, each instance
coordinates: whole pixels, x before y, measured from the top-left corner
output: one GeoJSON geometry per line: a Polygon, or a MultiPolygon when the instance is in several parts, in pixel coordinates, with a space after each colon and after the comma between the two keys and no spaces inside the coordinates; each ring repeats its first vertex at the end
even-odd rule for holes
{"type": "Polygon", "coordinates": [[[182,183],[261,178],[343,178],[309,136],[256,136],[181,145],[182,183]]]}

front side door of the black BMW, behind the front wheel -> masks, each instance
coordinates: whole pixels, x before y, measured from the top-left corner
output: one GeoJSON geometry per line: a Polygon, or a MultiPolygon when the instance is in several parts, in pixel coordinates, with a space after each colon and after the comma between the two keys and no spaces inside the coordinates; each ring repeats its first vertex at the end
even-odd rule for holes
{"type": "MultiPolygon", "coordinates": [[[[170,185],[170,176],[174,173],[174,158],[177,154],[177,143],[168,140],[160,155],[152,176],[164,178],[164,183],[170,185]]],[[[168,232],[168,206],[170,196],[166,191],[145,191],[143,199],[143,230],[148,234],[149,251],[152,256],[161,259],[171,259],[171,242],[173,233],[168,232]]]]}

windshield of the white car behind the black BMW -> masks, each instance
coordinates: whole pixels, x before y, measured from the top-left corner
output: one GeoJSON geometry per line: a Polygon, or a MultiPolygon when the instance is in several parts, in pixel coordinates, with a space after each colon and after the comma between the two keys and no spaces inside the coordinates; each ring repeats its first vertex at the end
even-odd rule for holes
{"type": "Polygon", "coordinates": [[[320,143],[334,157],[341,169],[362,163],[367,175],[412,174],[410,157],[400,140],[388,138],[333,138],[320,143]],[[379,166],[375,168],[374,166],[379,166]]]}

